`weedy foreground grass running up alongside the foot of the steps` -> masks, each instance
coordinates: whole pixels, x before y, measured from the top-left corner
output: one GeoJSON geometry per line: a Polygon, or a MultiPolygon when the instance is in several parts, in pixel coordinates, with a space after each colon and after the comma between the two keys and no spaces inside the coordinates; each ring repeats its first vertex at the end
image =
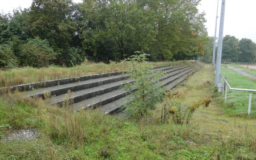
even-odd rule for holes
{"type": "Polygon", "coordinates": [[[0,135],[36,128],[41,136],[30,141],[0,141],[0,159],[255,160],[255,119],[229,117],[223,97],[214,93],[213,81],[211,65],[204,65],[172,91],[184,107],[207,97],[212,101],[207,108],[199,107],[187,125],[175,125],[171,114],[162,123],[162,104],[134,121],[97,109],[73,112],[19,93],[4,95],[0,98],[0,135]]]}

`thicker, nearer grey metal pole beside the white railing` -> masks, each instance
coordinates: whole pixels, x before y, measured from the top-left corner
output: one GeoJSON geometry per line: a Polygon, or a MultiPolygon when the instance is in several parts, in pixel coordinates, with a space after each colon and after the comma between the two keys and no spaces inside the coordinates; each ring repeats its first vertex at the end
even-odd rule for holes
{"type": "Polygon", "coordinates": [[[222,54],[225,4],[226,4],[226,0],[222,0],[222,2],[221,2],[220,23],[219,23],[219,40],[218,40],[217,61],[216,61],[216,67],[215,67],[216,72],[215,72],[214,86],[218,86],[218,82],[219,82],[219,78],[220,78],[220,64],[221,64],[221,54],[222,54]]]}

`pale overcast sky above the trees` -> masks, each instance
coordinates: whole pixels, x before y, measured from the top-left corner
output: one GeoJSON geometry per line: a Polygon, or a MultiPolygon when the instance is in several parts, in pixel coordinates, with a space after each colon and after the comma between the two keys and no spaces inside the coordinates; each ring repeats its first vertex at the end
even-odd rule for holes
{"type": "MultiPolygon", "coordinates": [[[[82,0],[73,0],[81,2],[82,0]]],[[[202,0],[199,10],[205,12],[208,35],[214,36],[215,18],[218,0],[202,0]]],[[[32,0],[0,0],[0,11],[12,11],[14,8],[28,8],[32,0]]],[[[219,15],[221,0],[219,0],[219,15]]],[[[256,42],[256,0],[226,0],[224,35],[234,35],[238,39],[248,38],[256,42]]],[[[219,18],[218,18],[219,22],[219,18]]],[[[219,28],[219,23],[217,25],[219,28]]],[[[217,32],[217,37],[218,37],[217,32]]]]}

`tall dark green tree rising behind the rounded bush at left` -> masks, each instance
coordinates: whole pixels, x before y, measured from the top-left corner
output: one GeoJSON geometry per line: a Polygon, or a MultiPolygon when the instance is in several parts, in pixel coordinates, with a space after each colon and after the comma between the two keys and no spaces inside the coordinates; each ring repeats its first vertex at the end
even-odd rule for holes
{"type": "Polygon", "coordinates": [[[57,64],[69,66],[65,50],[76,31],[72,20],[71,0],[33,0],[29,12],[29,29],[34,37],[47,39],[57,56],[57,64]]]}

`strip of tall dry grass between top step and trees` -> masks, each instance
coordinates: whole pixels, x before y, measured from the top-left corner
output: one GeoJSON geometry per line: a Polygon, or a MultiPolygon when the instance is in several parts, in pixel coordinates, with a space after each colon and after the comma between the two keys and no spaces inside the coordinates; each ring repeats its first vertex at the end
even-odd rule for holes
{"type": "MultiPolygon", "coordinates": [[[[163,66],[176,62],[149,62],[152,66],[163,66]]],[[[78,77],[90,74],[101,74],[125,70],[126,62],[111,62],[106,64],[103,62],[94,63],[86,62],[74,67],[49,66],[40,69],[33,67],[15,68],[11,70],[0,70],[0,87],[15,86],[24,83],[41,82],[60,78],[78,77]]]]}

